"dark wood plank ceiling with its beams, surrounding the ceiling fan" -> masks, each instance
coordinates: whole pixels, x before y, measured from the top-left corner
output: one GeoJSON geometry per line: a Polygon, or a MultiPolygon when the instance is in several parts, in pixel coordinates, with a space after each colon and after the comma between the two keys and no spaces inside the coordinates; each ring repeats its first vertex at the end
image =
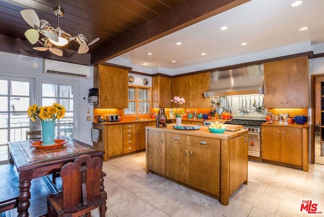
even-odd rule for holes
{"type": "Polygon", "coordinates": [[[0,0],[0,51],[94,65],[248,1],[0,0]],[[82,33],[88,42],[100,38],[88,53],[77,54],[79,44],[74,41],[61,48],[62,57],[32,49],[41,45],[31,45],[25,39],[24,32],[31,27],[20,11],[33,9],[39,19],[56,28],[54,8],[64,10],[62,30],[72,36],[82,33]]]}

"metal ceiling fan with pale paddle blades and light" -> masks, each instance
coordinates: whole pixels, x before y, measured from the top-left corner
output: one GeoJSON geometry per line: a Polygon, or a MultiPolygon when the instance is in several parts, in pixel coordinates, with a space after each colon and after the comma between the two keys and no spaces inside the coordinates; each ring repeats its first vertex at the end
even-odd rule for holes
{"type": "Polygon", "coordinates": [[[44,20],[41,19],[39,20],[36,12],[31,9],[26,9],[20,11],[21,16],[23,19],[33,28],[28,29],[25,32],[25,37],[31,44],[35,44],[36,42],[42,44],[44,47],[35,47],[33,49],[35,50],[41,50],[41,51],[46,51],[50,50],[52,53],[58,56],[63,55],[63,51],[60,49],[55,49],[52,47],[53,45],[56,46],[65,46],[67,43],[70,41],[75,41],[77,42],[80,46],[78,49],[79,54],[84,54],[89,51],[89,46],[94,44],[99,40],[99,38],[96,38],[89,44],[87,44],[88,40],[83,34],[78,34],[75,37],[72,37],[69,33],[63,31],[60,28],[60,17],[64,15],[63,9],[59,8],[54,8],[54,14],[58,17],[58,27],[53,28],[51,24],[44,20]],[[46,38],[43,38],[39,40],[39,33],[43,34],[46,38]],[[46,40],[48,39],[48,40],[46,40]],[[47,49],[46,49],[47,48],[47,49]],[[51,49],[50,49],[51,48],[51,49]],[[46,49],[46,50],[45,50],[46,49]],[[62,55],[61,55],[62,52],[62,55]]]}

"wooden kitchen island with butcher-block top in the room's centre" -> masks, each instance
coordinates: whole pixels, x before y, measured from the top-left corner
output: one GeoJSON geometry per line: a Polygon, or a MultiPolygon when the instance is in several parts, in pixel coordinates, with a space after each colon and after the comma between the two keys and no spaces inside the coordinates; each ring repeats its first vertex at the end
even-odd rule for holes
{"type": "Polygon", "coordinates": [[[145,127],[146,173],[161,175],[228,205],[229,196],[248,184],[248,130],[211,133],[207,126],[193,130],[173,126],[145,127]]]}

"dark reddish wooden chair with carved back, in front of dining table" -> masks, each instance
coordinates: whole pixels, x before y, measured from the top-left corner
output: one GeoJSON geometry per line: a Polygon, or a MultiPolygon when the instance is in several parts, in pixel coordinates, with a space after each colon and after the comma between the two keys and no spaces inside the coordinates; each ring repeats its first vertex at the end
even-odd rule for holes
{"type": "Polygon", "coordinates": [[[47,197],[48,216],[80,216],[99,208],[104,217],[107,194],[103,186],[102,159],[81,155],[61,168],[62,191],[47,197]]]}

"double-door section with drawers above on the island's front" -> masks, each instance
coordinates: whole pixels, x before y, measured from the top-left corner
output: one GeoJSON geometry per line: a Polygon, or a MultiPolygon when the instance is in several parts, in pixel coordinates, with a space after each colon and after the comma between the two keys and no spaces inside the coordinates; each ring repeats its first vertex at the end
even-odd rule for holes
{"type": "Polygon", "coordinates": [[[219,196],[220,143],[220,139],[168,133],[166,176],[219,196]]]}

